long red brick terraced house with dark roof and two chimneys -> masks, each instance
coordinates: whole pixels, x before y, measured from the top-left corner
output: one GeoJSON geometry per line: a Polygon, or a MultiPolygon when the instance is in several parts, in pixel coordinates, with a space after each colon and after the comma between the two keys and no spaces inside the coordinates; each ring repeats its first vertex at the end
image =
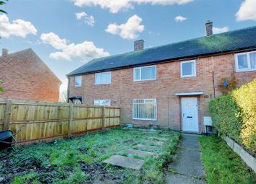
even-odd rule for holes
{"type": "Polygon", "coordinates": [[[208,102],[256,77],[256,27],[96,58],[67,75],[68,97],[122,107],[122,123],[205,132],[208,102]]]}

